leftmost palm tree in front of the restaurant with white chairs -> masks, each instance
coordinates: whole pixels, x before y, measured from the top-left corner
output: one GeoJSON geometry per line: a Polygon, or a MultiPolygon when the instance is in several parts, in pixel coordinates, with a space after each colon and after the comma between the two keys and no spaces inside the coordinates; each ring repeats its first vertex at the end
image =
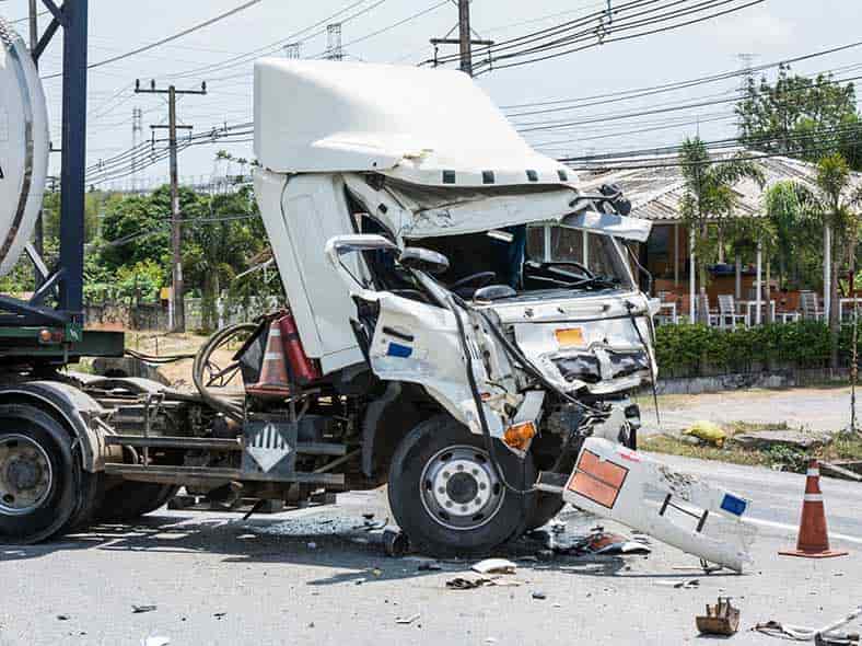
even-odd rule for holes
{"type": "Polygon", "coordinates": [[[679,153],[685,193],[679,204],[683,221],[692,237],[700,290],[707,288],[707,264],[714,257],[718,233],[738,207],[739,197],[733,186],[745,177],[762,185],[760,170],[742,155],[713,162],[707,146],[696,137],[686,139],[679,153]]]}

